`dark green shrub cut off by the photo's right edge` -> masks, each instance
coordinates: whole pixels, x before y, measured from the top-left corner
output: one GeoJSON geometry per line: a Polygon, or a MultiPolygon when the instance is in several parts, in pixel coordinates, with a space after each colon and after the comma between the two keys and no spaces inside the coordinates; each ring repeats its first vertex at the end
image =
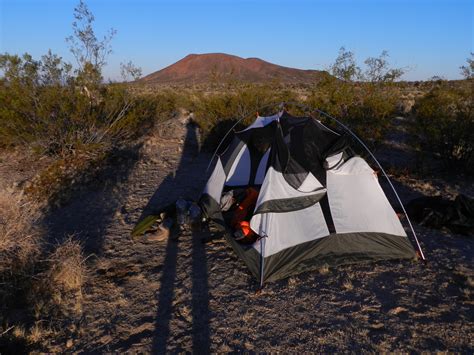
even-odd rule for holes
{"type": "Polygon", "coordinates": [[[440,85],[414,106],[414,144],[450,166],[474,172],[474,100],[469,86],[440,85]]]}

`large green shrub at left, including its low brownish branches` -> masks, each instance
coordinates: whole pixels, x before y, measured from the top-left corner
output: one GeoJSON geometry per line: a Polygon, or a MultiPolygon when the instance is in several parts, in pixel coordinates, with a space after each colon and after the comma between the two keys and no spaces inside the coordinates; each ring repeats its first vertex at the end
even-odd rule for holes
{"type": "Polygon", "coordinates": [[[84,85],[82,73],[73,76],[52,54],[40,61],[5,54],[0,68],[0,146],[54,157],[27,189],[36,199],[57,202],[80,175],[93,176],[112,152],[176,110],[172,92],[138,94],[124,84],[91,83],[91,75],[84,85]]]}

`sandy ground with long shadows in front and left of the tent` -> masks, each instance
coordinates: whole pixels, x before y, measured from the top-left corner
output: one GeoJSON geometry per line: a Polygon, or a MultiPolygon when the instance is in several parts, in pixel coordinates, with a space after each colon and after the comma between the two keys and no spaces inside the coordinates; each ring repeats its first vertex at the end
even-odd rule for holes
{"type": "Polygon", "coordinates": [[[69,340],[69,350],[85,352],[472,352],[472,239],[417,227],[427,264],[305,273],[258,296],[222,240],[203,245],[203,235],[184,233],[133,242],[145,206],[197,197],[206,181],[209,155],[198,154],[195,129],[176,121],[161,131],[113,183],[48,216],[55,238],[75,233],[96,254],[82,318],[65,325],[50,351],[69,340]]]}

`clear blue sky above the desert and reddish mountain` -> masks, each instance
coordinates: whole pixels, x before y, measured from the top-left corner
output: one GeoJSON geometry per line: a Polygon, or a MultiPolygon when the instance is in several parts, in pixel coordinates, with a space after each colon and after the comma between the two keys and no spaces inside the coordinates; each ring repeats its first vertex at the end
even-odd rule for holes
{"type": "MultiPolygon", "coordinates": [[[[35,57],[48,49],[73,61],[78,0],[0,0],[0,52],[35,57]]],[[[474,51],[474,0],[152,1],[86,0],[97,34],[114,28],[105,77],[132,60],[151,73],[189,53],[224,52],[302,69],[325,69],[341,46],[357,60],[384,49],[406,80],[460,78],[474,51]]]]}

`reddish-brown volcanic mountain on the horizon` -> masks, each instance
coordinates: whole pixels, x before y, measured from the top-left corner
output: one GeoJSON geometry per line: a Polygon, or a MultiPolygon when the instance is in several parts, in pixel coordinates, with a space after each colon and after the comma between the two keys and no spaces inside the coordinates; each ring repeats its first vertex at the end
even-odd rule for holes
{"type": "Polygon", "coordinates": [[[148,84],[205,84],[222,81],[310,84],[327,76],[320,70],[283,67],[259,58],[240,58],[224,53],[189,54],[176,63],[149,74],[140,81],[148,84]]]}

